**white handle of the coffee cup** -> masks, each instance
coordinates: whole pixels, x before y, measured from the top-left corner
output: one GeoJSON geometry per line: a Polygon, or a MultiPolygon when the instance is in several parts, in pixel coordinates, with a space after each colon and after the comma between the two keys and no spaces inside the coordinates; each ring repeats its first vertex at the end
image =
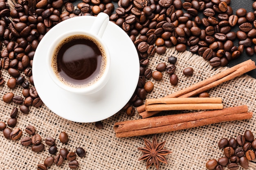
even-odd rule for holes
{"type": "Polygon", "coordinates": [[[99,13],[96,17],[96,20],[92,24],[90,32],[101,38],[108,25],[108,21],[109,21],[108,14],[103,12],[99,13]]]}

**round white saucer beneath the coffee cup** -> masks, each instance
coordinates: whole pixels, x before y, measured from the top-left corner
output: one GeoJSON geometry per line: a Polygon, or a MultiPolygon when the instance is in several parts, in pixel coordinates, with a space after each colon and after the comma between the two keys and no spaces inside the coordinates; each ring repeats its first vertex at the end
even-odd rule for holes
{"type": "Polygon", "coordinates": [[[106,119],[126,105],[139,79],[139,57],[130,37],[116,24],[109,22],[102,37],[107,44],[112,68],[106,86],[96,95],[77,95],[59,88],[46,70],[46,54],[54,39],[73,29],[90,29],[96,17],[79,16],[62,21],[45,34],[33,60],[34,86],[43,103],[57,115],[76,122],[106,119]]]}

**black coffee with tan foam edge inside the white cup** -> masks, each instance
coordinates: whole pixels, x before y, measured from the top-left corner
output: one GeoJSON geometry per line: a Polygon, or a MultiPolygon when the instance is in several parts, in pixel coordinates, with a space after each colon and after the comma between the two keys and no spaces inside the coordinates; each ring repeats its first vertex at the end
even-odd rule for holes
{"type": "Polygon", "coordinates": [[[106,54],[102,45],[86,35],[72,35],[54,51],[52,67],[58,78],[72,87],[90,86],[105,70],[106,54]]]}

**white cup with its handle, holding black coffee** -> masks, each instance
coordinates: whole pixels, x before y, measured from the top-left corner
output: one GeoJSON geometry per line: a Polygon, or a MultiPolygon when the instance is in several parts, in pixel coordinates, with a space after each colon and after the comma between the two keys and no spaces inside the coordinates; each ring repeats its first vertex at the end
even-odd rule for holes
{"type": "MultiPolygon", "coordinates": [[[[72,18],[68,20],[72,20],[72,18]]],[[[63,22],[68,22],[68,20],[65,20],[63,22]]],[[[110,60],[111,59],[110,59],[110,53],[108,51],[108,47],[106,46],[104,41],[101,39],[101,37],[103,36],[103,33],[108,25],[108,22],[109,22],[109,16],[106,13],[99,13],[89,31],[85,31],[85,30],[68,31],[58,36],[58,38],[56,38],[56,40],[52,42],[46,57],[47,71],[52,81],[56,85],[58,85],[60,88],[64,89],[65,91],[69,91],[71,93],[77,93],[81,95],[89,95],[92,93],[96,93],[106,85],[110,77],[110,60]],[[60,50],[61,46],[63,46],[63,44],[66,43],[65,41],[70,41],[70,39],[72,38],[78,39],[78,37],[82,37],[82,39],[92,40],[94,44],[97,44],[97,47],[101,51],[101,55],[102,55],[99,73],[94,73],[95,75],[90,76],[90,81],[86,80],[87,82],[80,83],[80,84],[76,84],[68,79],[65,79],[64,76],[62,77],[62,75],[58,72],[59,68],[56,62],[58,51],[60,50]]],[[[87,46],[87,45],[84,45],[84,46],[87,46]]],[[[85,53],[89,53],[89,52],[85,51],[85,53]]],[[[72,55],[72,53],[71,55],[66,55],[66,56],[70,60],[74,60],[74,55],[72,55]]],[[[66,65],[65,65],[65,68],[67,68],[66,65]]],[[[85,68],[85,70],[87,70],[87,68],[85,68]]],[[[86,72],[84,70],[81,70],[81,71],[86,72]]]]}

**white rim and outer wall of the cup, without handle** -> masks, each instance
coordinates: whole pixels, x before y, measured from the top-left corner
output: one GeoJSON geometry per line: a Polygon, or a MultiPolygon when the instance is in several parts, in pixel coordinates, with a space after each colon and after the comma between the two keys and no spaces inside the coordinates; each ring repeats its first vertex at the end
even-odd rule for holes
{"type": "Polygon", "coordinates": [[[101,88],[103,88],[103,86],[105,86],[105,84],[108,82],[109,79],[109,71],[110,71],[110,53],[108,51],[108,46],[106,45],[105,42],[103,42],[103,40],[101,40],[101,38],[97,37],[97,35],[94,35],[92,33],[90,33],[89,31],[85,31],[85,30],[72,30],[72,31],[68,31],[65,32],[61,35],[59,35],[50,45],[49,50],[47,51],[47,56],[46,56],[46,60],[47,60],[47,71],[49,76],[51,77],[52,81],[54,81],[55,84],[57,84],[60,88],[63,88],[65,91],[70,91],[72,93],[78,93],[78,94],[92,94],[95,93],[97,91],[99,91],[101,88]],[[72,87],[72,86],[68,86],[66,84],[64,84],[63,82],[61,82],[61,80],[59,80],[56,77],[56,74],[54,73],[53,69],[52,69],[52,55],[51,53],[56,49],[57,45],[64,40],[65,38],[72,36],[72,35],[77,35],[77,34],[83,34],[83,35],[88,35],[92,38],[94,38],[95,40],[97,40],[104,49],[104,52],[106,54],[106,65],[105,65],[105,71],[103,72],[103,74],[101,75],[101,77],[92,85],[90,86],[85,86],[85,87],[72,87]]]}

